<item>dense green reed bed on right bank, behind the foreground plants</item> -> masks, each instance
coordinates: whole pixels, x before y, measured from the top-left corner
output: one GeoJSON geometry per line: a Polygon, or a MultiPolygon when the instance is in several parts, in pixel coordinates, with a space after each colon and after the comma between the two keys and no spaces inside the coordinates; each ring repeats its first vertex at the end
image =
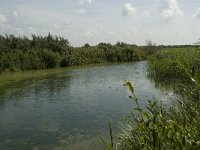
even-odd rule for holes
{"type": "Polygon", "coordinates": [[[148,71],[151,76],[157,78],[185,79],[188,78],[185,69],[192,76],[200,71],[199,58],[199,47],[164,49],[150,57],[148,71]]]}

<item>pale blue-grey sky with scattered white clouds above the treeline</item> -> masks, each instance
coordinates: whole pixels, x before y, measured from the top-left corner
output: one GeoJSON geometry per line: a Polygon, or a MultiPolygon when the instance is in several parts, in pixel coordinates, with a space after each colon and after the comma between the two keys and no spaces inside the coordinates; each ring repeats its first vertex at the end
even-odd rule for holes
{"type": "Polygon", "coordinates": [[[72,46],[192,44],[200,39],[200,0],[0,0],[1,35],[48,33],[72,46]]]}

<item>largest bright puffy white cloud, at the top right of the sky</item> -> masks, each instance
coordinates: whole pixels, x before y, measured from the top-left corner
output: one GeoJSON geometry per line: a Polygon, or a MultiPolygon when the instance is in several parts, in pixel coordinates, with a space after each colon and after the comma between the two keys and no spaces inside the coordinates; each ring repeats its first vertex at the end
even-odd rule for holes
{"type": "Polygon", "coordinates": [[[171,19],[182,14],[177,0],[158,0],[157,8],[163,19],[171,19]]]}

